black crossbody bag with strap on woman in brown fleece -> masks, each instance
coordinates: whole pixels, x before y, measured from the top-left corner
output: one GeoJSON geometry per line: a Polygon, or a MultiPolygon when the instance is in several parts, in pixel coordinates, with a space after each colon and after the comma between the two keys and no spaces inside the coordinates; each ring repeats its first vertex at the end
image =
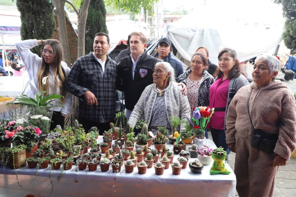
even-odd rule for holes
{"type": "Polygon", "coordinates": [[[276,146],[276,142],[279,138],[279,135],[266,133],[261,129],[254,129],[252,119],[250,116],[250,110],[249,110],[249,101],[250,101],[252,91],[253,89],[251,89],[251,92],[248,98],[248,114],[249,114],[249,118],[253,128],[253,137],[251,141],[251,146],[263,152],[274,153],[274,148],[276,146]]]}

